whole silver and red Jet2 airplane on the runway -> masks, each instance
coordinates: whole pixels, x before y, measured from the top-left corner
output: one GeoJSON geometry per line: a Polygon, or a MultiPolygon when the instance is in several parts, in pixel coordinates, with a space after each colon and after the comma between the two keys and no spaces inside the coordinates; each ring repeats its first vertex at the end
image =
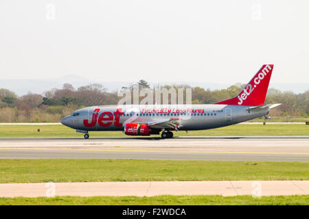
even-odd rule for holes
{"type": "Polygon", "coordinates": [[[100,105],[76,110],[61,120],[84,133],[123,131],[128,136],[159,135],[172,138],[172,131],[214,129],[266,116],[280,103],[264,104],[273,64],[264,64],[240,93],[214,104],[196,105],[100,105]]]}

